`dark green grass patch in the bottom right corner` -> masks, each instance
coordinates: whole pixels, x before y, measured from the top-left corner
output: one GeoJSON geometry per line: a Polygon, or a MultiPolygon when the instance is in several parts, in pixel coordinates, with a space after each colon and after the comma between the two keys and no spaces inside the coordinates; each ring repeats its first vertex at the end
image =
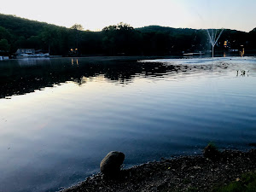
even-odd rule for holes
{"type": "Polygon", "coordinates": [[[241,179],[231,182],[227,186],[214,189],[214,192],[255,192],[256,191],[256,172],[248,172],[241,176],[241,179]]]}

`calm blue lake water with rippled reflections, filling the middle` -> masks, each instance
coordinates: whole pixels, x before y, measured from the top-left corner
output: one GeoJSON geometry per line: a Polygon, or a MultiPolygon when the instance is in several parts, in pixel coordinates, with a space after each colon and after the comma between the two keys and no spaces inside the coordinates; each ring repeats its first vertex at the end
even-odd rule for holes
{"type": "Polygon", "coordinates": [[[112,150],[129,167],[255,138],[253,57],[0,62],[1,192],[71,186],[112,150]]]}

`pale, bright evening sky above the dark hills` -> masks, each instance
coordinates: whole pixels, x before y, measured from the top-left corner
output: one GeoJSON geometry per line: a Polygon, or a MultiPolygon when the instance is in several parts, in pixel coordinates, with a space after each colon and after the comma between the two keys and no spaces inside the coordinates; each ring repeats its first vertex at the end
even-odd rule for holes
{"type": "Polygon", "coordinates": [[[84,30],[127,23],[182,28],[256,27],[256,0],[0,0],[0,13],[84,30]]]}

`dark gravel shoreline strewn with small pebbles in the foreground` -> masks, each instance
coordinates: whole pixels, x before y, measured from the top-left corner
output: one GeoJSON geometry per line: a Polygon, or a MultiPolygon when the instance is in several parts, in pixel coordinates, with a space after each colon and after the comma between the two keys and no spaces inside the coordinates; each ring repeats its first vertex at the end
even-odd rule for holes
{"type": "Polygon", "coordinates": [[[97,173],[61,192],[81,191],[212,191],[256,170],[256,150],[225,150],[216,160],[179,156],[122,170],[115,178],[97,173]]]}

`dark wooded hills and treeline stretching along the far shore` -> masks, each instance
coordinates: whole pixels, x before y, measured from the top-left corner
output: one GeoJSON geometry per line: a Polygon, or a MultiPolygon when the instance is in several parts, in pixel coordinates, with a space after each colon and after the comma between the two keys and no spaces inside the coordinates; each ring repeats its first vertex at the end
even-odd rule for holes
{"type": "MultiPolygon", "coordinates": [[[[85,26],[86,27],[86,26],[85,26]]],[[[256,29],[252,32],[224,30],[216,49],[229,47],[256,49],[256,29]]],[[[124,23],[106,26],[101,32],[26,20],[0,14],[0,54],[13,55],[17,49],[42,49],[50,55],[172,55],[210,49],[206,30],[144,26],[124,23]],[[76,50],[77,49],[77,50],[76,50]],[[76,51],[73,51],[76,50],[76,51]]]]}

